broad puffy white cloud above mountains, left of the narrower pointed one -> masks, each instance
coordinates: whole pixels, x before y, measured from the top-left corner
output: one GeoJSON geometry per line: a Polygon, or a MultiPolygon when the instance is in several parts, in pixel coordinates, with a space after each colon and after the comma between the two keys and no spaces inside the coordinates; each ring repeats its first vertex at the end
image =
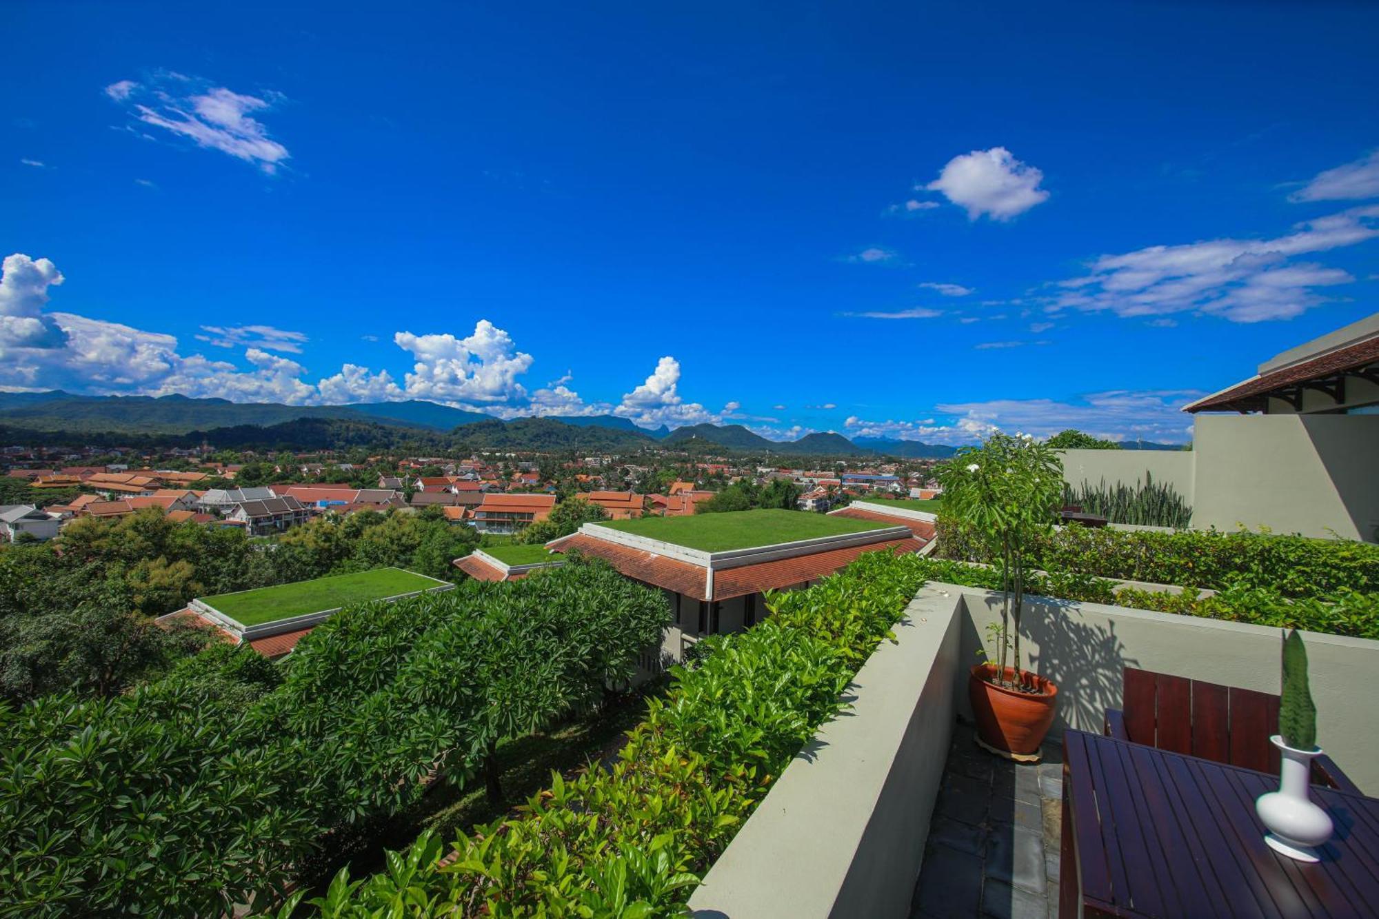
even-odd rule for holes
{"type": "Polygon", "coordinates": [[[480,319],[467,338],[400,331],[393,341],[416,359],[405,386],[412,399],[480,404],[525,400],[527,391],[517,377],[527,373],[532,357],[519,352],[512,335],[487,319],[480,319]]]}

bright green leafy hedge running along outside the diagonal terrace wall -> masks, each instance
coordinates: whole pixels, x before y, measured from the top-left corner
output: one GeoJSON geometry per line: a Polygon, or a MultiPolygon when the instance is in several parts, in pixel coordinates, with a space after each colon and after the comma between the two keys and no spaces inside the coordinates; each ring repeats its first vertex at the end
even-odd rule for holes
{"type": "Polygon", "coordinates": [[[876,552],[769,596],[760,625],[701,642],[611,771],[556,775],[520,817],[458,839],[444,868],[423,835],[383,873],[341,872],[314,905],[332,918],[677,913],[923,584],[921,559],[876,552]]]}

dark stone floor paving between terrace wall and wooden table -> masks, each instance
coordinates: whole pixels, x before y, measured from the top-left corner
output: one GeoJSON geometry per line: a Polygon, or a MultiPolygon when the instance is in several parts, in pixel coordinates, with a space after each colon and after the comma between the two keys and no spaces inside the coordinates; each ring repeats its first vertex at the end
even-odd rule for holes
{"type": "Polygon", "coordinates": [[[1038,764],[1011,763],[954,726],[910,918],[1058,916],[1062,814],[1058,744],[1038,764]]]}

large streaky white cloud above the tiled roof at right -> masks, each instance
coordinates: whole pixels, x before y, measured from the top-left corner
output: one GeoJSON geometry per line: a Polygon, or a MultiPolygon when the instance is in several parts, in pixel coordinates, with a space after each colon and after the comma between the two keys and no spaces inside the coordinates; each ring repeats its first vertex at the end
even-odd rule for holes
{"type": "Polygon", "coordinates": [[[1324,302],[1320,287],[1354,280],[1339,268],[1291,261],[1379,236],[1379,204],[1303,221],[1276,239],[1216,239],[1102,255],[1088,275],[1062,281],[1052,310],[1117,316],[1198,312],[1230,322],[1291,319],[1324,302]]]}

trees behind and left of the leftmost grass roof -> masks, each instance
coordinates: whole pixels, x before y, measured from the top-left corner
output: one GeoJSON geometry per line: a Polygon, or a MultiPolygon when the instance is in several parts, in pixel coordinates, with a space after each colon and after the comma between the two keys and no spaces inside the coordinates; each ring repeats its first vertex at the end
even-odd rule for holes
{"type": "Polygon", "coordinates": [[[327,516],[274,542],[159,509],[73,520],[0,548],[0,698],[112,695],[156,676],[201,639],[150,620],[193,596],[383,566],[448,578],[476,540],[434,511],[327,516]]]}

